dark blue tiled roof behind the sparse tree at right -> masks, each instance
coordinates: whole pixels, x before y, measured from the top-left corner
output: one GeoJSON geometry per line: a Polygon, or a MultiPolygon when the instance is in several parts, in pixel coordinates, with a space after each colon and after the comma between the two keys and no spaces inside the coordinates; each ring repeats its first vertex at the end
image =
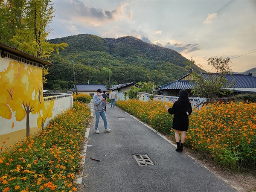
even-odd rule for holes
{"type": "MultiPolygon", "coordinates": [[[[199,73],[199,72],[196,72],[199,73]]],[[[187,74],[186,76],[188,76],[189,74],[187,74]]],[[[206,73],[202,73],[202,75],[205,76],[205,79],[207,79],[208,75],[206,73]]],[[[184,77],[186,77],[184,76],[184,77]]],[[[181,79],[183,79],[184,77],[182,77],[181,79]]],[[[235,86],[232,86],[232,88],[234,87],[236,88],[250,88],[254,89],[256,91],[256,77],[251,76],[251,75],[246,75],[246,74],[227,74],[226,79],[228,80],[228,83],[231,85],[231,82],[234,80],[235,81],[235,86]]],[[[193,86],[193,81],[182,81],[182,80],[177,80],[177,81],[173,81],[169,84],[165,84],[163,86],[161,86],[159,88],[159,90],[172,90],[172,89],[192,89],[193,86]]]]}

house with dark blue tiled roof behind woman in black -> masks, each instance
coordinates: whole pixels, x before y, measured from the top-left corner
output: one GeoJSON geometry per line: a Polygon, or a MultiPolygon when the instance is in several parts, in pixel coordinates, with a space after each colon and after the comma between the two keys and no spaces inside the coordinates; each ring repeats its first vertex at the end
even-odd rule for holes
{"type": "MultiPolygon", "coordinates": [[[[195,72],[202,74],[207,79],[207,73],[195,72]]],[[[230,89],[235,93],[256,93],[256,77],[252,73],[248,74],[227,74],[225,78],[228,80],[230,89]]],[[[193,87],[193,77],[189,73],[182,78],[158,87],[158,90],[163,91],[164,96],[178,96],[179,91],[185,89],[191,96],[193,87]]]]}

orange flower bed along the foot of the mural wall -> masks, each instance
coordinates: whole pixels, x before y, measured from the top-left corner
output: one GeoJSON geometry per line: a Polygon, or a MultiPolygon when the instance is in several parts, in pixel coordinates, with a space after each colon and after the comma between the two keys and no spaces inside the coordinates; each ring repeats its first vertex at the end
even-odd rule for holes
{"type": "MultiPolygon", "coordinates": [[[[90,108],[74,102],[35,137],[27,137],[9,151],[0,149],[0,191],[73,192],[81,164],[81,143],[90,108]]],[[[8,138],[7,138],[8,139],[8,138]]]]}

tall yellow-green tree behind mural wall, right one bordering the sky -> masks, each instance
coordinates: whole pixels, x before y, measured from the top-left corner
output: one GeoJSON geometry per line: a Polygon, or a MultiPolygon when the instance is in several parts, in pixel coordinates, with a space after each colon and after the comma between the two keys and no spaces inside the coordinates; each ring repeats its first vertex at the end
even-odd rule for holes
{"type": "MultiPolygon", "coordinates": [[[[26,15],[23,20],[25,28],[16,29],[11,41],[18,49],[35,57],[46,59],[54,50],[64,49],[68,44],[50,44],[47,35],[50,32],[49,23],[53,18],[53,4],[51,0],[29,0],[25,6],[26,15]]],[[[23,9],[23,7],[20,7],[23,9]]]]}

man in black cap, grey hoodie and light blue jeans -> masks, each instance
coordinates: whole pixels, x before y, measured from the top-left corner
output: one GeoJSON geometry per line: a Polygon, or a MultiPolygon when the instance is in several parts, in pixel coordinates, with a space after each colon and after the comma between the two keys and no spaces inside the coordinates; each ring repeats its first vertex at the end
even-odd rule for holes
{"type": "Polygon", "coordinates": [[[95,110],[95,133],[99,134],[99,129],[98,129],[99,116],[101,116],[103,119],[105,132],[110,132],[111,129],[108,128],[107,117],[104,111],[104,107],[107,105],[107,101],[102,97],[101,89],[98,89],[97,95],[93,96],[93,104],[94,104],[94,110],[95,110]]]}

